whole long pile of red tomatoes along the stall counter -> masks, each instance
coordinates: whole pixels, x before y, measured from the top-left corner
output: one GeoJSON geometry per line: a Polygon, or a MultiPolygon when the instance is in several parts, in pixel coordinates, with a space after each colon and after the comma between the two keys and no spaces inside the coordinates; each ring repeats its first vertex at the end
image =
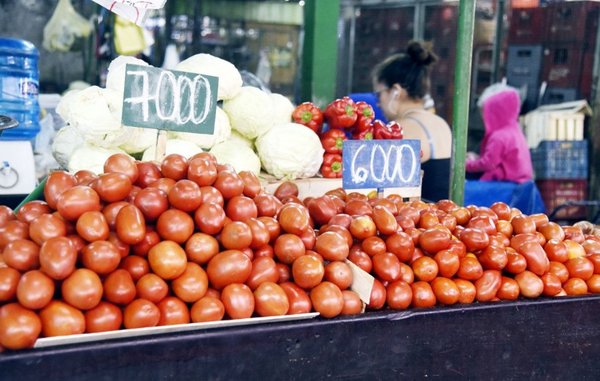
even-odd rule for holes
{"type": "Polygon", "coordinates": [[[262,190],[208,153],[111,156],[54,172],[44,201],[0,206],[0,350],[38,337],[600,292],[600,239],[544,214],[262,190]]]}

